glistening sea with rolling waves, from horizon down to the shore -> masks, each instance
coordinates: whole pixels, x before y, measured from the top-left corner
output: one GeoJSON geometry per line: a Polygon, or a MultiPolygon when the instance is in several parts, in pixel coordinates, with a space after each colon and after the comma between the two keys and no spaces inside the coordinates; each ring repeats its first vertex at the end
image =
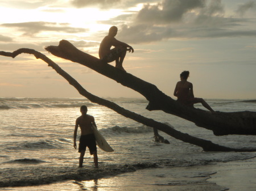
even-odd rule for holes
{"type": "MultiPolygon", "coordinates": [[[[253,135],[216,137],[212,131],[182,118],[147,111],[148,101],[144,99],[109,100],[218,145],[256,148],[253,135]]],[[[256,112],[253,101],[207,102],[215,111],[256,112]]],[[[195,107],[204,109],[200,104],[195,107]]],[[[87,99],[1,97],[0,117],[0,190],[229,190],[230,185],[214,182],[217,169],[231,164],[239,168],[256,158],[256,152],[204,152],[160,131],[170,144],[156,143],[152,128],[87,99]],[[87,105],[88,114],[94,116],[101,134],[114,149],[104,152],[98,148],[99,168],[94,168],[89,151],[85,152],[84,167],[78,167],[73,130],[81,105],[87,105]]],[[[79,134],[80,130],[77,143],[79,134]]],[[[243,190],[255,186],[255,177],[248,186],[241,183],[243,190]]],[[[239,184],[230,190],[240,190],[239,184]]]]}

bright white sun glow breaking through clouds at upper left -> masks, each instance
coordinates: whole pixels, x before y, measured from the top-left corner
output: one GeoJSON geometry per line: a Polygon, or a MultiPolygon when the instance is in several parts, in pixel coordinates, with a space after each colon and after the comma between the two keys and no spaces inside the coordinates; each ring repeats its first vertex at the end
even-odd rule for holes
{"type": "MultiPolygon", "coordinates": [[[[38,9],[0,8],[1,15],[6,15],[5,23],[51,22],[68,23],[69,27],[89,29],[89,32],[106,31],[108,24],[100,24],[99,20],[109,20],[121,14],[122,10],[99,10],[96,8],[71,9],[60,7],[40,7],[38,9]],[[58,11],[57,14],[55,10],[58,11]]],[[[89,33],[87,35],[90,35],[89,33]]]]}

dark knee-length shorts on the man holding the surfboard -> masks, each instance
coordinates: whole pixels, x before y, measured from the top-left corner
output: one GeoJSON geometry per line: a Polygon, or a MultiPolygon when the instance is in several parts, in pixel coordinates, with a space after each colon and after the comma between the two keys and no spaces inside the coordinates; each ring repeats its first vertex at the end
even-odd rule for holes
{"type": "Polygon", "coordinates": [[[92,155],[94,151],[97,151],[94,134],[81,135],[79,152],[81,152],[82,150],[86,150],[86,147],[89,148],[90,155],[92,155]]]}

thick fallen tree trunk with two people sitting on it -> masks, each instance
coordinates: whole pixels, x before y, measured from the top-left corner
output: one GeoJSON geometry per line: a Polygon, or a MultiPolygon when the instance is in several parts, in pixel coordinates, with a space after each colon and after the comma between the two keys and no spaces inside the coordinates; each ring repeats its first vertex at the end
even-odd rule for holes
{"type": "Polygon", "coordinates": [[[211,114],[201,109],[186,107],[160,91],[154,84],[145,82],[125,71],[121,71],[77,49],[67,40],[61,40],[59,46],[47,46],[53,55],[80,63],[105,75],[123,86],[129,87],[149,101],[149,111],[162,110],[185,120],[195,122],[197,126],[212,130],[214,135],[256,135],[256,112],[217,112],[211,114]]]}

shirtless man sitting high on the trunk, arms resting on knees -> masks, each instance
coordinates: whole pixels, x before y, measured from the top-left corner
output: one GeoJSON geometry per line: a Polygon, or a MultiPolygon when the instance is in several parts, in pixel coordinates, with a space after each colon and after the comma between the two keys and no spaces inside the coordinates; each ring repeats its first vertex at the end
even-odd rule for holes
{"type": "Polygon", "coordinates": [[[133,53],[134,49],[130,45],[115,39],[117,31],[118,29],[115,26],[109,28],[108,36],[105,36],[101,41],[98,55],[101,60],[107,63],[115,61],[115,67],[125,71],[123,68],[123,60],[125,59],[126,51],[133,53]],[[114,46],[114,48],[110,49],[112,46],[114,46]]]}

